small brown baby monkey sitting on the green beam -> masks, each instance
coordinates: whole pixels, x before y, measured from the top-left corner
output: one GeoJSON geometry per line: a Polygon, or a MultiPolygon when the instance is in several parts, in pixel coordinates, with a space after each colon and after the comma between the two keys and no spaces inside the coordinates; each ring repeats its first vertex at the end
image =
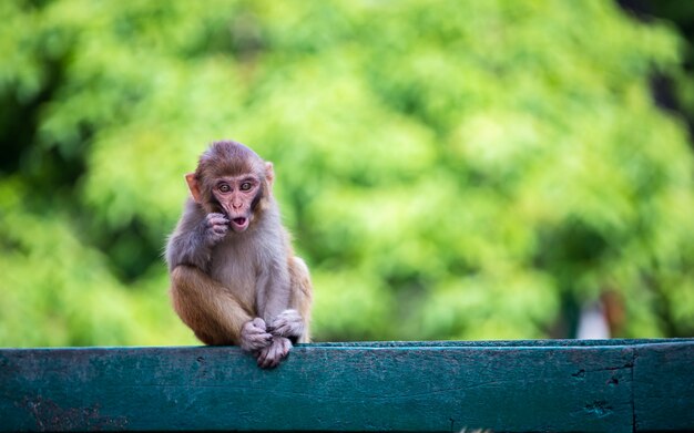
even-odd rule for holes
{"type": "Polygon", "coordinates": [[[261,368],[309,341],[313,286],[273,196],[273,164],[213,142],[185,175],[191,197],[169,237],[173,308],[210,346],[239,346],[261,368]]]}

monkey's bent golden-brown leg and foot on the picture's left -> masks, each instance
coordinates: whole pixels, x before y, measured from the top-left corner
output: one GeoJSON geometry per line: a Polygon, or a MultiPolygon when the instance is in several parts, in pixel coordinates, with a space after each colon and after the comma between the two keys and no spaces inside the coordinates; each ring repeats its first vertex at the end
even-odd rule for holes
{"type": "Polygon", "coordinates": [[[193,266],[180,265],[171,272],[174,310],[205,344],[239,344],[253,351],[272,342],[265,322],[228,289],[193,266]]]}

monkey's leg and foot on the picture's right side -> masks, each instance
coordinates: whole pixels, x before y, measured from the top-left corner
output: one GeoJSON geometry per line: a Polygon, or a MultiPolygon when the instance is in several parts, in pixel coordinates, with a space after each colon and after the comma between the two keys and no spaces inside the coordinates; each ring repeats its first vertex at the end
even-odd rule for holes
{"type": "Polygon", "coordinates": [[[290,295],[289,309],[283,311],[272,323],[271,332],[287,337],[295,342],[310,341],[309,322],[313,287],[304,260],[293,257],[289,261],[290,295]]]}

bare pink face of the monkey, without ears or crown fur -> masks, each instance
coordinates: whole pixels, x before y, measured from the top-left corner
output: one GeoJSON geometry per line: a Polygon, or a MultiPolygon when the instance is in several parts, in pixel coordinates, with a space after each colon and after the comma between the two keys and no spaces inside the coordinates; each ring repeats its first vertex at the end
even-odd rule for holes
{"type": "Polygon", "coordinates": [[[224,208],[229,219],[229,227],[235,233],[248,228],[253,219],[253,200],[259,193],[261,181],[252,175],[222,177],[213,194],[224,208]]]}

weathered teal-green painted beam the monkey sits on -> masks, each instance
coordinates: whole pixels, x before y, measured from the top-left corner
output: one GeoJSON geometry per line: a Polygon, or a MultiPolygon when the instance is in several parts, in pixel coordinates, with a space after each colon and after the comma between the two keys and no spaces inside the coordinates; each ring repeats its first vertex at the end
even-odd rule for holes
{"type": "Polygon", "coordinates": [[[694,431],[694,339],[0,349],[0,431],[694,431]]]}

